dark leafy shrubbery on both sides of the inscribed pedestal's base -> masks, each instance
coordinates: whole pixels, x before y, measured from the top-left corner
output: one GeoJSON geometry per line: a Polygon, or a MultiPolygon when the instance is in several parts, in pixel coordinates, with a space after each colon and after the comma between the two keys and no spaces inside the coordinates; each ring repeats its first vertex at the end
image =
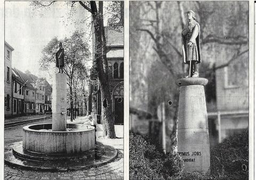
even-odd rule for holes
{"type": "Polygon", "coordinates": [[[166,155],[155,138],[130,133],[130,179],[249,179],[249,132],[211,149],[210,171],[183,172],[178,154],[166,155]]]}

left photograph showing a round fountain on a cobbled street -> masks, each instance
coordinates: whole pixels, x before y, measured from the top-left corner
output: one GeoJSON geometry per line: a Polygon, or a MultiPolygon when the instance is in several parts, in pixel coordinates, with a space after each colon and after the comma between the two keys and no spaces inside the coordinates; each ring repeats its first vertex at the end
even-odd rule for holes
{"type": "Polygon", "coordinates": [[[124,2],[4,15],[4,179],[123,179],[124,2]]]}

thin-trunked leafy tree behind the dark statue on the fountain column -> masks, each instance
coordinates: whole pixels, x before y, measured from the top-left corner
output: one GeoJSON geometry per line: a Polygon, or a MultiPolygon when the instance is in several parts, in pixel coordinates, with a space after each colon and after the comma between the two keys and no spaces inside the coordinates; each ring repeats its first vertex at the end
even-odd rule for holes
{"type": "MultiPolygon", "coordinates": [[[[88,78],[86,62],[89,61],[90,51],[89,45],[83,40],[83,33],[74,31],[69,38],[58,39],[54,37],[43,48],[42,58],[40,61],[40,68],[44,71],[51,71],[49,67],[55,67],[55,52],[57,51],[59,42],[65,50],[63,72],[67,75],[67,84],[69,86],[69,103],[70,108],[73,109],[73,101],[77,99],[77,84],[81,80],[88,78]],[[75,92],[75,93],[73,93],[75,92]]],[[[57,68],[55,68],[57,69],[57,68]]],[[[73,111],[71,111],[71,118],[73,111]]]]}

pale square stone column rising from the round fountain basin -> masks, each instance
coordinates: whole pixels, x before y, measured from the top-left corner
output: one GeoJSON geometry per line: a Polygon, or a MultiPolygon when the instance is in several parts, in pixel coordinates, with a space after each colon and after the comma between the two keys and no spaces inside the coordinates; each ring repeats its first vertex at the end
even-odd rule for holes
{"type": "Polygon", "coordinates": [[[56,73],[52,84],[52,130],[66,130],[67,79],[64,73],[56,73]]]}

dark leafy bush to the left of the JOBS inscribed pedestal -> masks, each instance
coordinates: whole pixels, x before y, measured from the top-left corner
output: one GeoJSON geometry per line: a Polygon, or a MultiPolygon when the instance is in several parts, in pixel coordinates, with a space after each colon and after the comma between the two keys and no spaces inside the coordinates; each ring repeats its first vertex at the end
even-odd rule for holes
{"type": "Polygon", "coordinates": [[[130,179],[163,179],[182,171],[179,154],[166,155],[154,138],[130,133],[130,179]]]}

